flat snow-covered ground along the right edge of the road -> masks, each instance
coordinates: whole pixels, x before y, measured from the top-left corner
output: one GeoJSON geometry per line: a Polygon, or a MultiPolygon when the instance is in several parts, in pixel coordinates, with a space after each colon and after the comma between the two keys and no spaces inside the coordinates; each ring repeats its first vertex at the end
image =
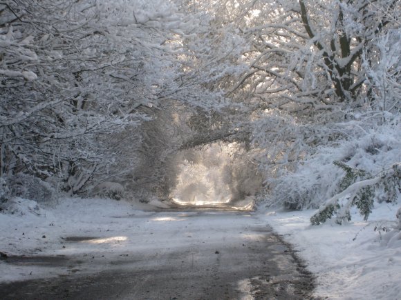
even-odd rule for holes
{"type": "Polygon", "coordinates": [[[353,210],[353,221],[342,226],[311,226],[313,210],[269,210],[261,218],[299,250],[317,276],[317,297],[396,300],[401,299],[401,239],[398,230],[386,230],[398,226],[397,210],[375,204],[369,221],[353,210]]]}

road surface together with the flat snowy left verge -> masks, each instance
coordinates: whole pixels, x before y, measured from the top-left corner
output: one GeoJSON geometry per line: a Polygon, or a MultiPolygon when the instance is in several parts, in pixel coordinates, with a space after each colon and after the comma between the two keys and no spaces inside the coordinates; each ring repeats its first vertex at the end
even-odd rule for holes
{"type": "Polygon", "coordinates": [[[1,299],[305,299],[313,279],[250,212],[66,199],[10,217],[1,299]],[[82,203],[86,201],[86,203],[82,203]]]}

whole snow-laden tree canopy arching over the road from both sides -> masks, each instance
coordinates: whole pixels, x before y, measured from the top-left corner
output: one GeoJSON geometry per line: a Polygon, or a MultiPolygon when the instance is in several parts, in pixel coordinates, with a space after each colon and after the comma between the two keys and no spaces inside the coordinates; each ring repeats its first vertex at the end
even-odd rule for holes
{"type": "Polygon", "coordinates": [[[400,161],[379,154],[398,147],[400,11],[396,0],[3,1],[0,175],[168,197],[180,151],[228,143],[244,174],[263,174],[260,199],[317,207],[339,190],[312,166],[364,161],[344,145],[364,144],[380,168],[400,161]]]}

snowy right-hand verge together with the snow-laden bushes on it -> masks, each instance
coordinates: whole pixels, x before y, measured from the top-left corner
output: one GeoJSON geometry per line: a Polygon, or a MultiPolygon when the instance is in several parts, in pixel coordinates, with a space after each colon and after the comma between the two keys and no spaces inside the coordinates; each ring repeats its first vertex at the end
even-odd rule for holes
{"type": "Polygon", "coordinates": [[[377,125],[368,116],[337,123],[340,139],[269,179],[263,218],[317,275],[318,297],[401,299],[401,121],[389,114],[377,125]]]}

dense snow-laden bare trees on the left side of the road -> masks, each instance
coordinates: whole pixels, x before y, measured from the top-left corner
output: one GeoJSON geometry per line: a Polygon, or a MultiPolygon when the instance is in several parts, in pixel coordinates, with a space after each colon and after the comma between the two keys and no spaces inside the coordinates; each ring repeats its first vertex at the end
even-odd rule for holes
{"type": "Polygon", "coordinates": [[[1,174],[56,175],[72,193],[113,177],[121,152],[103,137],[180,92],[171,45],[190,24],[167,1],[15,0],[0,13],[1,174]]]}

